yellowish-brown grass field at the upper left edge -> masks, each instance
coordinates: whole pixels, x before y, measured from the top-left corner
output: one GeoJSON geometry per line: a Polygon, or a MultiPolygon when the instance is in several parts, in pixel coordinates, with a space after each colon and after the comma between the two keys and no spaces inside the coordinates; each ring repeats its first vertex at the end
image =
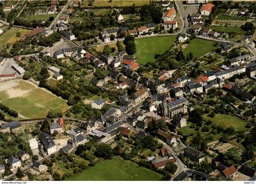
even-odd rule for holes
{"type": "Polygon", "coordinates": [[[1,46],[6,46],[8,43],[13,44],[16,41],[20,40],[21,37],[24,36],[27,32],[30,30],[27,29],[20,29],[13,27],[12,29],[7,30],[4,34],[1,35],[0,37],[0,47],[1,46]],[[21,36],[16,37],[16,34],[20,32],[21,36]]]}

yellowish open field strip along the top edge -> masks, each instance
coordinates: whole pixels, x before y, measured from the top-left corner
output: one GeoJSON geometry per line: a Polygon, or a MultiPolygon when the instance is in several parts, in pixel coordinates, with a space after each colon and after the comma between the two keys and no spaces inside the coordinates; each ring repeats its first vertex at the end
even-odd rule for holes
{"type": "Polygon", "coordinates": [[[112,0],[111,2],[108,0],[95,0],[93,2],[94,7],[123,7],[123,6],[130,6],[130,5],[145,5],[149,4],[149,0],[112,0]]]}

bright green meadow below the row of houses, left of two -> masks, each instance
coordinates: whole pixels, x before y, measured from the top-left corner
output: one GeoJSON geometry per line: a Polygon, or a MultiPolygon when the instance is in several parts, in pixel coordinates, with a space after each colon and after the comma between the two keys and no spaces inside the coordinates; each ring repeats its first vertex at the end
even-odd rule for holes
{"type": "Polygon", "coordinates": [[[176,37],[149,37],[136,39],[137,52],[135,56],[139,58],[139,63],[145,65],[155,61],[155,54],[163,54],[174,43],[176,37]]]}

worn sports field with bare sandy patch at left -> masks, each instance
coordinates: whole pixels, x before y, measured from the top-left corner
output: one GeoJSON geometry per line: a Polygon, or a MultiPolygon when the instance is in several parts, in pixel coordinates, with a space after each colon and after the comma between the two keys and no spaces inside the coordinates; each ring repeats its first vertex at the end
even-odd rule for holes
{"type": "Polygon", "coordinates": [[[0,83],[0,102],[25,118],[44,118],[50,108],[68,108],[63,99],[21,80],[0,83]]]}

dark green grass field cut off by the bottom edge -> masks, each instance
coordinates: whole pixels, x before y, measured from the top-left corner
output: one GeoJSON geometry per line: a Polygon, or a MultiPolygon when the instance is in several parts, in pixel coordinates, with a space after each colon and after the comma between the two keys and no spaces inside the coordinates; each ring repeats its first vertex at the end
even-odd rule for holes
{"type": "Polygon", "coordinates": [[[127,160],[104,160],[79,174],[71,175],[69,181],[126,181],[161,180],[162,175],[150,169],[142,168],[127,160]]]}

